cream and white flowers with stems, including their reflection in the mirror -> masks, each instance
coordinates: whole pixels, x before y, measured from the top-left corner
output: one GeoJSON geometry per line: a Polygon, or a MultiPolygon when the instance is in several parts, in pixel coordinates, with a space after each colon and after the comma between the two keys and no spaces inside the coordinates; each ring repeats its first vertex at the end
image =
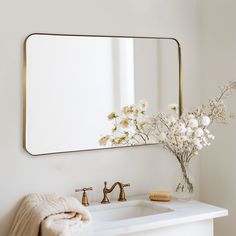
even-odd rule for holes
{"type": "Polygon", "coordinates": [[[113,122],[112,133],[102,136],[100,145],[162,144],[177,158],[182,170],[183,178],[176,191],[192,193],[193,184],[187,167],[191,159],[214,140],[209,127],[215,122],[226,123],[228,119],[235,118],[227,112],[224,103],[233,90],[236,90],[236,81],[220,87],[217,96],[191,112],[183,112],[181,116],[177,114],[176,105],[170,106],[171,114],[159,112],[152,116],[146,114],[148,104],[145,101],[125,106],[120,114],[112,112],[108,115],[113,122]]]}

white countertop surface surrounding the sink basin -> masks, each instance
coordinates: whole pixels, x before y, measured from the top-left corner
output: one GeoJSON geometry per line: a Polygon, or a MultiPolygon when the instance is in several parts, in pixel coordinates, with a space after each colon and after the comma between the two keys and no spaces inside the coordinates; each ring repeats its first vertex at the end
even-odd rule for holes
{"type": "MultiPolygon", "coordinates": [[[[130,197],[129,200],[148,200],[148,197],[137,196],[130,197]]],[[[116,202],[116,201],[112,201],[116,202]]],[[[228,215],[228,210],[208,205],[198,201],[177,201],[170,202],[155,202],[159,206],[170,208],[173,211],[150,215],[145,217],[137,217],[132,219],[124,219],[110,222],[92,222],[92,224],[85,229],[84,233],[77,235],[83,236],[112,236],[124,233],[134,233],[145,230],[158,229],[161,227],[173,226],[183,223],[190,223],[202,220],[213,219],[228,215]]],[[[93,204],[94,205],[94,204],[93,204]]],[[[89,209],[95,206],[89,206],[89,209]]],[[[76,236],[76,234],[74,235],[76,236]]]]}

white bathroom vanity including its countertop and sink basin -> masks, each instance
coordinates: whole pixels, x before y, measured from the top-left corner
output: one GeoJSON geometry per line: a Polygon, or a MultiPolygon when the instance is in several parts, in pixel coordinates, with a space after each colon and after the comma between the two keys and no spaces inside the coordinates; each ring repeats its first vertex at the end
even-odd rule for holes
{"type": "Polygon", "coordinates": [[[213,236],[214,218],[228,215],[226,209],[198,201],[153,202],[147,197],[88,209],[93,222],[79,235],[213,236]]]}

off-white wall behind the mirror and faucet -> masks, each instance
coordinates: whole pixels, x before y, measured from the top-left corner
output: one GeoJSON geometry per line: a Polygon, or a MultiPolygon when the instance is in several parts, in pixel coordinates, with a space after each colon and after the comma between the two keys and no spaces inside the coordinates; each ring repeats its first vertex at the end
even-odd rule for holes
{"type": "Polygon", "coordinates": [[[93,186],[90,198],[100,199],[104,180],[130,182],[128,195],[169,188],[177,163],[155,146],[38,158],[23,150],[23,41],[33,32],[176,37],[183,47],[184,97],[191,96],[184,104],[192,106],[198,94],[197,0],[0,3],[0,235],[29,192],[74,194],[76,187],[93,186]]]}

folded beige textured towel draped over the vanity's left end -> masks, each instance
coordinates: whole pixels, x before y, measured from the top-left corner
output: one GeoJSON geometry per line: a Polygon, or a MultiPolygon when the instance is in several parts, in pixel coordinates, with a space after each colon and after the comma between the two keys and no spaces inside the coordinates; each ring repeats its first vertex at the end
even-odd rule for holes
{"type": "Polygon", "coordinates": [[[32,193],[22,200],[8,236],[70,236],[90,222],[76,198],[32,193]]]}

